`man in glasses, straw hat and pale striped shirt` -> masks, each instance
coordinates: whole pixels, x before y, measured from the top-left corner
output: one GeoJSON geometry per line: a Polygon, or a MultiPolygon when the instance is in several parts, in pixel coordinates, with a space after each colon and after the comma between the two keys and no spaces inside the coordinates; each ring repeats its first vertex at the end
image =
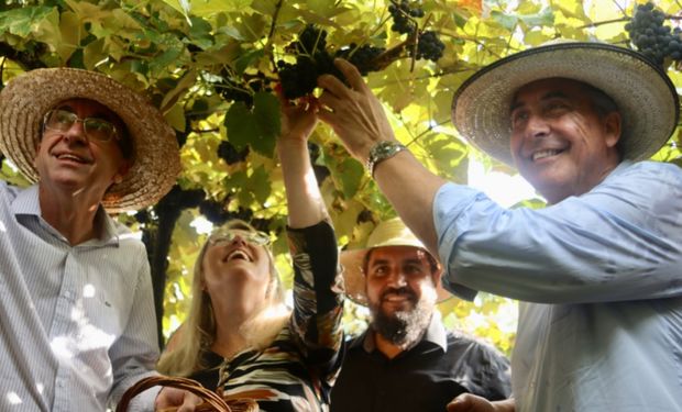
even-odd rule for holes
{"type": "Polygon", "coordinates": [[[175,134],[107,76],[37,69],[0,93],[0,152],[34,182],[0,181],[0,410],[103,411],[158,356],[144,245],[108,213],[170,189],[175,134]]]}

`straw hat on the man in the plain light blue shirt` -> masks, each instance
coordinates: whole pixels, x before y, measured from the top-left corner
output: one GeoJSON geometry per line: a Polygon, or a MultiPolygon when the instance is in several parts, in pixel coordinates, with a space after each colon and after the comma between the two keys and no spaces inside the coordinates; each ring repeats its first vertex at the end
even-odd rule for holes
{"type": "Polygon", "coordinates": [[[512,100],[522,86],[554,77],[583,81],[615,101],[623,119],[624,158],[651,157],[675,130],[678,93],[662,68],[628,48],[572,41],[516,53],[474,74],[454,94],[452,122],[474,146],[514,166],[512,100]]]}

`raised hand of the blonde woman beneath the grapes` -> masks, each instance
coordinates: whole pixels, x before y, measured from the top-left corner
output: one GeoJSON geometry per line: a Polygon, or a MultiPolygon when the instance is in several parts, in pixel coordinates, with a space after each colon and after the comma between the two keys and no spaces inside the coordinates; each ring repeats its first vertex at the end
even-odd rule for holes
{"type": "Polygon", "coordinates": [[[275,91],[282,107],[282,141],[306,142],[318,122],[319,103],[315,97],[300,98],[296,102],[287,100],[280,87],[275,91]]]}

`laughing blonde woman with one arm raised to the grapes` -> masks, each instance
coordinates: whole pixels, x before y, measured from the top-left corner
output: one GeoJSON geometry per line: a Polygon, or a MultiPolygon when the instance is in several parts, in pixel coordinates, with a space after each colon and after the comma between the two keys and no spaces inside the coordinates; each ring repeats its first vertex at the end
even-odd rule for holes
{"type": "Polygon", "coordinates": [[[201,248],[190,312],[158,370],[224,396],[253,398],[268,412],[327,411],[341,365],[337,242],[307,149],[316,108],[283,108],[277,152],[288,202],[294,311],[284,304],[270,237],[229,222],[201,248]]]}

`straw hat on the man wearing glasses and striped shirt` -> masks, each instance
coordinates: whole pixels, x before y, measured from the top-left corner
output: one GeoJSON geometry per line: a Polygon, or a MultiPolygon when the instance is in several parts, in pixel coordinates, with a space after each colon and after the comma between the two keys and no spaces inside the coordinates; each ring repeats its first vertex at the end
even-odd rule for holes
{"type": "Polygon", "coordinates": [[[102,200],[110,213],[155,203],[175,183],[180,159],[175,132],[161,112],[141,94],[95,71],[46,68],[12,79],[0,93],[0,152],[31,181],[43,116],[62,101],[89,99],[113,111],[128,127],[133,165],[123,181],[102,200]]]}

